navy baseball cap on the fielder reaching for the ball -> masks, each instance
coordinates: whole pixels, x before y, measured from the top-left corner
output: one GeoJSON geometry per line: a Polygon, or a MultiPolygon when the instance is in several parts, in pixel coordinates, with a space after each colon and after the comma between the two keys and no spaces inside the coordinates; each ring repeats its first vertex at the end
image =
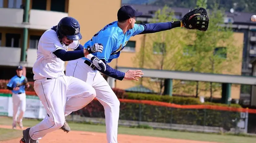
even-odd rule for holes
{"type": "Polygon", "coordinates": [[[132,17],[142,15],[142,12],[136,11],[133,6],[122,6],[117,12],[118,21],[123,21],[132,17]]]}

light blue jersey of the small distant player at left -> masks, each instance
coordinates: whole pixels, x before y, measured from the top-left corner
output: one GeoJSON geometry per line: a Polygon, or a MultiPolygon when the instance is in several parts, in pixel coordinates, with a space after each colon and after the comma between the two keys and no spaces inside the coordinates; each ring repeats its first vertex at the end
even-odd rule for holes
{"type": "MultiPolygon", "coordinates": [[[[11,87],[11,88],[15,88],[17,84],[23,83],[23,81],[24,81],[25,79],[26,79],[25,76],[19,77],[19,76],[16,75],[16,76],[14,76],[14,77],[11,78],[11,80],[9,81],[9,83],[7,84],[7,86],[9,86],[9,87],[11,87]]],[[[12,90],[12,93],[17,94],[17,93],[24,93],[24,92],[25,92],[25,85],[22,85],[22,86],[20,86],[19,88],[20,88],[20,89],[19,89],[19,90],[16,90],[16,91],[12,90]]]]}

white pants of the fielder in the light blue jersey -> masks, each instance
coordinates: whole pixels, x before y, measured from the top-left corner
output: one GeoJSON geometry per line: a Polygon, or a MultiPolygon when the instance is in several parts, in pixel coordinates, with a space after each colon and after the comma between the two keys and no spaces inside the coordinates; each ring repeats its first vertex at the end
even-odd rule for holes
{"type": "MultiPolygon", "coordinates": [[[[107,141],[108,143],[117,143],[120,101],[99,71],[93,70],[84,61],[84,59],[69,61],[66,66],[66,75],[81,79],[95,89],[96,98],[104,106],[105,110],[107,141]]],[[[73,103],[73,105],[76,104],[73,103]]],[[[86,105],[86,103],[80,104],[80,108],[86,105]]],[[[65,116],[70,113],[65,110],[65,116]]]]}

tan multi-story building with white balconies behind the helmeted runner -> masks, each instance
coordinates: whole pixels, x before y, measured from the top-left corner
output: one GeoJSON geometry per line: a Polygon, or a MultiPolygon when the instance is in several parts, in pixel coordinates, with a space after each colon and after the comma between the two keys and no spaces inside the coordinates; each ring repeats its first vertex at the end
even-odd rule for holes
{"type": "Polygon", "coordinates": [[[43,32],[72,16],[81,25],[81,43],[85,43],[117,19],[121,0],[111,1],[0,0],[0,79],[10,79],[15,67],[23,65],[33,80],[32,67],[43,32]]]}

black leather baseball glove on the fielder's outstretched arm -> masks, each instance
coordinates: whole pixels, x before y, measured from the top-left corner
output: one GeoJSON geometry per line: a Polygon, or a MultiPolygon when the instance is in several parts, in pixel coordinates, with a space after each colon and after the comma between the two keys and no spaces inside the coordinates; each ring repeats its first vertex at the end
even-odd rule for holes
{"type": "Polygon", "coordinates": [[[191,9],[181,21],[185,28],[206,31],[209,26],[209,14],[205,8],[199,7],[194,10],[191,9]]]}

